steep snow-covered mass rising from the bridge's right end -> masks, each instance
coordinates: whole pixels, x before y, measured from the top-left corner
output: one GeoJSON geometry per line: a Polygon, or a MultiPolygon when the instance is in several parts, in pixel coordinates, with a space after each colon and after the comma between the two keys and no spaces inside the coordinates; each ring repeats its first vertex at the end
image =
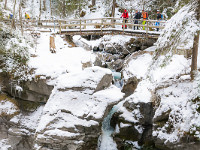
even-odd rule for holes
{"type": "Polygon", "coordinates": [[[167,21],[165,29],[158,38],[157,49],[191,49],[196,31],[200,26],[195,18],[196,4],[191,1],[178,11],[170,20],[167,21]]]}

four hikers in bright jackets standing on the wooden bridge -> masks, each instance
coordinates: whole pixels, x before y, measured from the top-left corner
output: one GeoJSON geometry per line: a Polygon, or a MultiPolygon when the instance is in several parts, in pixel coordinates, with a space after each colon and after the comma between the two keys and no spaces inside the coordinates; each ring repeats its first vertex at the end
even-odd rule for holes
{"type": "MultiPolygon", "coordinates": [[[[122,13],[121,18],[125,19],[125,23],[128,22],[128,12],[125,9],[124,12],[122,13]]],[[[142,10],[142,13],[139,12],[138,10],[135,11],[135,16],[134,16],[134,24],[139,24],[140,20],[142,19],[142,25],[143,25],[143,30],[145,30],[144,25],[146,24],[146,21],[148,20],[148,13],[144,10],[142,10]]],[[[159,10],[157,10],[157,22],[155,23],[155,26],[159,26],[160,25],[160,20],[163,19],[163,15],[160,13],[159,10]]],[[[124,26],[122,25],[122,29],[124,28],[124,26]]],[[[125,25],[125,29],[127,29],[127,25],[125,25]]],[[[133,27],[133,29],[136,29],[136,26],[133,27]]],[[[137,30],[139,29],[139,26],[137,26],[137,30]]],[[[159,28],[157,28],[157,31],[159,31],[159,28]]]]}

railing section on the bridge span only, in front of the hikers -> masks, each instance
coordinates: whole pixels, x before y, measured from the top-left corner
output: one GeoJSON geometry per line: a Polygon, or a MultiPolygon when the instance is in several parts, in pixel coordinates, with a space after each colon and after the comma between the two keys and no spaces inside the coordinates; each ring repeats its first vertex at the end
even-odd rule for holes
{"type": "MultiPolygon", "coordinates": [[[[98,18],[98,19],[70,19],[66,20],[65,23],[60,23],[60,31],[62,29],[106,29],[106,28],[122,28],[122,26],[128,26],[128,28],[133,29],[133,27],[139,27],[140,29],[145,29],[146,32],[152,31],[156,28],[163,29],[165,26],[165,21],[158,20],[145,20],[146,23],[142,25],[144,20],[139,19],[125,19],[122,18],[98,18]],[[134,24],[135,20],[138,24],[134,24]],[[159,25],[156,25],[159,22],[159,25]],[[90,27],[90,28],[88,28],[90,27]]],[[[123,28],[124,31],[125,28],[123,28]]]]}

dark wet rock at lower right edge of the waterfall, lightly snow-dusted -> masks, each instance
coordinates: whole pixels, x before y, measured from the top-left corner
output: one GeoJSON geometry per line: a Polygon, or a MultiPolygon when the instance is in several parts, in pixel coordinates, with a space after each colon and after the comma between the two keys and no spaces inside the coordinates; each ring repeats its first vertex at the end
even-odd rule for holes
{"type": "Polygon", "coordinates": [[[114,114],[111,123],[119,128],[114,134],[118,148],[123,147],[124,140],[138,141],[140,145],[152,144],[152,118],[154,115],[152,103],[126,101],[123,107],[127,111],[126,114],[130,113],[133,118],[126,118],[123,111],[114,114]]]}

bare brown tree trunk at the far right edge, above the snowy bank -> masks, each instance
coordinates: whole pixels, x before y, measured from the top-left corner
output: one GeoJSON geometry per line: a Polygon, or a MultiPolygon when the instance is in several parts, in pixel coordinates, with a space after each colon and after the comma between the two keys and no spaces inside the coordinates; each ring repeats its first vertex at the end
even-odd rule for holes
{"type": "MultiPolygon", "coordinates": [[[[200,0],[197,2],[196,19],[200,20],[200,0]]],[[[193,50],[192,50],[192,64],[191,64],[191,80],[194,80],[195,71],[197,71],[197,56],[199,47],[199,31],[194,36],[193,50]]]]}

